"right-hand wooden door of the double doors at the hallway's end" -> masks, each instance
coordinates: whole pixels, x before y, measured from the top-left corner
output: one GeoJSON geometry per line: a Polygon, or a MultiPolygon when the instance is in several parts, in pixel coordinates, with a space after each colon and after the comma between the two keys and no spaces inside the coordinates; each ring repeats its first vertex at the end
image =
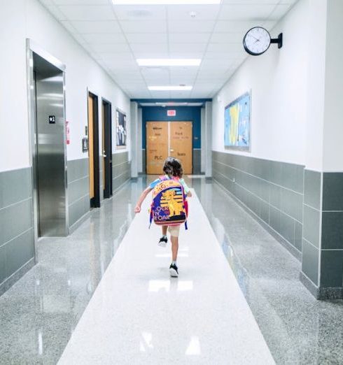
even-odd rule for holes
{"type": "Polygon", "coordinates": [[[183,173],[193,173],[192,122],[170,122],[169,155],[182,163],[183,173]]]}

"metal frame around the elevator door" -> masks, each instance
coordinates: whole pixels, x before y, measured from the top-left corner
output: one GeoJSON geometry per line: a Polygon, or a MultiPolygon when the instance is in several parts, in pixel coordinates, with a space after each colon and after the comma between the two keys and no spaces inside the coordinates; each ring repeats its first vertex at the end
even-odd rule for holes
{"type": "Polygon", "coordinates": [[[29,161],[31,164],[31,183],[32,183],[32,214],[34,220],[34,261],[38,262],[38,184],[37,184],[37,164],[36,164],[36,90],[34,80],[34,53],[45,59],[63,73],[63,120],[64,120],[64,194],[65,194],[65,236],[69,234],[69,210],[68,210],[68,185],[67,185],[67,162],[66,162],[66,93],[65,93],[65,71],[66,66],[59,59],[50,55],[37,45],[34,41],[27,38],[27,106],[29,119],[29,161]]]}

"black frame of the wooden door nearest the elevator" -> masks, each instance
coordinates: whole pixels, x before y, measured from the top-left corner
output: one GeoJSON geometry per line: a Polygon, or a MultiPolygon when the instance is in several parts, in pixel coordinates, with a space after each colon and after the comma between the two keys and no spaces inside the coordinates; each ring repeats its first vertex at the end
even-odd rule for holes
{"type": "MultiPolygon", "coordinates": [[[[90,208],[100,208],[100,169],[99,169],[99,97],[87,88],[87,128],[90,131],[90,117],[88,115],[88,97],[93,99],[93,178],[94,198],[90,199],[90,208]]],[[[89,136],[88,136],[89,138],[89,136]]],[[[90,150],[88,150],[88,163],[90,150]]]]}

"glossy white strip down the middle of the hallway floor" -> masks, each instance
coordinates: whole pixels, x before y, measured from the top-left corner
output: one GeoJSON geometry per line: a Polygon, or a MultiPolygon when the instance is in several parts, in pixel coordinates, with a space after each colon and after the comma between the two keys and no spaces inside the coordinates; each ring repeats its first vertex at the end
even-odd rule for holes
{"type": "Polygon", "coordinates": [[[181,227],[179,278],[169,278],[170,243],[160,248],[160,228],[148,230],[148,203],[59,364],[274,364],[197,196],[181,227]]]}

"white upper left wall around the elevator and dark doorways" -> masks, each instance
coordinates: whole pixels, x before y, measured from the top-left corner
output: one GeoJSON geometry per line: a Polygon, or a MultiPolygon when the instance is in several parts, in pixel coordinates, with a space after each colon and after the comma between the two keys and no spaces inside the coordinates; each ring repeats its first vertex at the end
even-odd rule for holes
{"type": "MultiPolygon", "coordinates": [[[[26,38],[31,38],[66,64],[66,120],[69,121],[71,138],[71,144],[67,146],[67,158],[87,157],[81,148],[81,139],[87,125],[87,87],[99,96],[99,101],[104,97],[112,103],[113,152],[116,152],[116,107],[126,113],[127,127],[130,129],[130,99],[127,95],[37,0],[1,1],[0,48],[3,52],[0,57],[0,171],[31,165],[26,38]]],[[[101,125],[101,119],[99,124],[101,125]]],[[[127,150],[130,152],[130,130],[128,136],[127,150]]],[[[101,148],[102,143],[100,151],[101,148]]]]}

